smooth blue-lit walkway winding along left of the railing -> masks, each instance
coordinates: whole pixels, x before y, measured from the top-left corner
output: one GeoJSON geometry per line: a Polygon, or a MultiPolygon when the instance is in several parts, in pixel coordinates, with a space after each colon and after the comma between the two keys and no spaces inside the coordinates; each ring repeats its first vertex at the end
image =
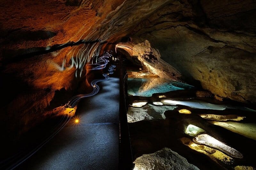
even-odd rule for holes
{"type": "Polygon", "coordinates": [[[68,124],[17,169],[118,169],[119,78],[81,100],[68,124]]]}

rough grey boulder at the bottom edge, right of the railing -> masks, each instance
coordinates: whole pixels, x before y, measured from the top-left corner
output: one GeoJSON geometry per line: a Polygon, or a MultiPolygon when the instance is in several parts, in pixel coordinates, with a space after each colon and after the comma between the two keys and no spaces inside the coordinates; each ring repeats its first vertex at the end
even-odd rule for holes
{"type": "Polygon", "coordinates": [[[169,148],[163,148],[152,154],[142,155],[133,163],[135,164],[134,170],[199,170],[196,166],[189,164],[187,159],[169,148]]]}

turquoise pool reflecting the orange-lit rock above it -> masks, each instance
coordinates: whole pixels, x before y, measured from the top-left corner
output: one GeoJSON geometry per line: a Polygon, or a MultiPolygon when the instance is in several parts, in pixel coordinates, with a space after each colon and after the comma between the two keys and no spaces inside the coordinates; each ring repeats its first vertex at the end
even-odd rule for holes
{"type": "Polygon", "coordinates": [[[192,88],[194,87],[188,84],[160,77],[128,78],[128,95],[130,96],[150,97],[154,93],[192,88]]]}

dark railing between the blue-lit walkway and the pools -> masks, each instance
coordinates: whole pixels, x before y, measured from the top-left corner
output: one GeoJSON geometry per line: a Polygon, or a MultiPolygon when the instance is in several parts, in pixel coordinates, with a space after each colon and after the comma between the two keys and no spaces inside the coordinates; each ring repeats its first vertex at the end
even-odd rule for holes
{"type": "Polygon", "coordinates": [[[119,103],[119,169],[131,170],[132,149],[130,142],[129,127],[127,122],[127,73],[120,61],[120,103],[119,103]]]}

